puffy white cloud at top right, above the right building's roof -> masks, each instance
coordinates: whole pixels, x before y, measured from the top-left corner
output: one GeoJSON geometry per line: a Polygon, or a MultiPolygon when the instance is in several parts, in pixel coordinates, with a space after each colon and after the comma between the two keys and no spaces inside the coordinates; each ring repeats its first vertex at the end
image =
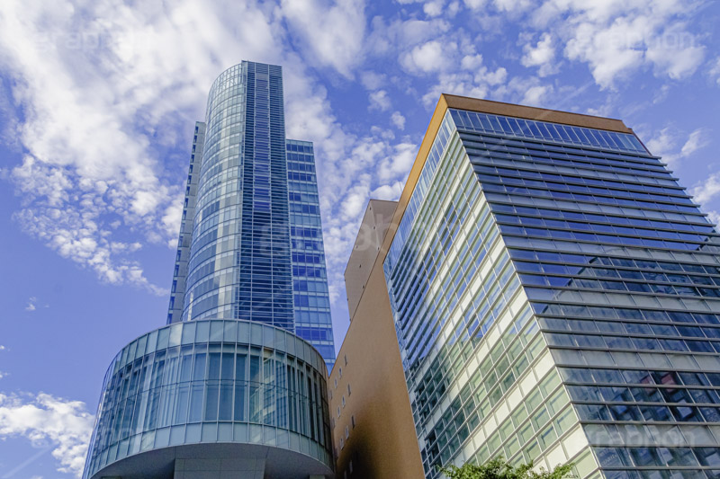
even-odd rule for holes
{"type": "Polygon", "coordinates": [[[705,48],[685,22],[697,3],[680,0],[545,0],[532,15],[564,41],[565,57],[588,63],[597,84],[612,88],[638,69],[682,79],[701,64],[705,48]]]}

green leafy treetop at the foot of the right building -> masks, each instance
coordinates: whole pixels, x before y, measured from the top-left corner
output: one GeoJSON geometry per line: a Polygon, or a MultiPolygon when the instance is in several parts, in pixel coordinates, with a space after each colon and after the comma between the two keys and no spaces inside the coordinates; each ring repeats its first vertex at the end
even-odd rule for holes
{"type": "Polygon", "coordinates": [[[442,467],[440,472],[450,479],[567,479],[572,477],[572,464],[537,473],[533,463],[512,466],[503,457],[495,457],[482,466],[467,463],[462,467],[442,467]]]}

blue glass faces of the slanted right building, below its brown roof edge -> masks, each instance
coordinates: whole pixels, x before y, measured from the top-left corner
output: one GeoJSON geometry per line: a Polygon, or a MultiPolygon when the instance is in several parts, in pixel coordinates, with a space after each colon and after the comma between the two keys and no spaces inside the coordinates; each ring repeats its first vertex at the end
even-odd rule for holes
{"type": "Polygon", "coordinates": [[[634,135],[448,111],[384,262],[426,475],[720,475],[718,251],[634,135]]]}

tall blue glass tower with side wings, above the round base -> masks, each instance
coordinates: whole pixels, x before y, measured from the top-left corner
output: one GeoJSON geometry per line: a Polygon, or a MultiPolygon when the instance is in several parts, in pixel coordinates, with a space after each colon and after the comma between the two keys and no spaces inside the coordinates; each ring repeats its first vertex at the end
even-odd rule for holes
{"type": "Polygon", "coordinates": [[[331,368],[315,158],[311,142],[285,138],[281,67],[243,62],[215,80],[190,168],[168,324],[273,324],[331,368]]]}

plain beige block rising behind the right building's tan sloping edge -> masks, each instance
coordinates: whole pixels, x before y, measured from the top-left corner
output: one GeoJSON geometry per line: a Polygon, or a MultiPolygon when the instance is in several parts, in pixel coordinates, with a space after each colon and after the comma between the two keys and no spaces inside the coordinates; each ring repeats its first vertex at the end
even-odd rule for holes
{"type": "Polygon", "coordinates": [[[397,201],[370,200],[365,209],[365,217],[357,231],[353,253],[347,261],[345,269],[345,290],[347,292],[347,311],[353,319],[356,308],[363,295],[365,283],[370,278],[370,271],[380,246],[383,244],[385,232],[392,220],[392,214],[398,206],[397,201]]]}

